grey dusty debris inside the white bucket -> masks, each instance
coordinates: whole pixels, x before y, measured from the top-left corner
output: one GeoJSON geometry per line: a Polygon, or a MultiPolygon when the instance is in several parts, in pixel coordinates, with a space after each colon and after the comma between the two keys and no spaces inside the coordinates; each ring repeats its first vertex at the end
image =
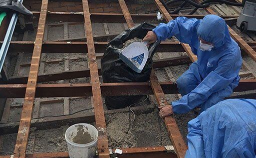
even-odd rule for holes
{"type": "Polygon", "coordinates": [[[81,143],[81,144],[86,144],[89,142],[92,142],[94,138],[91,136],[91,134],[87,131],[88,128],[85,127],[81,124],[76,125],[77,127],[77,134],[74,136],[73,133],[71,136],[74,136],[72,141],[75,143],[81,143]]]}

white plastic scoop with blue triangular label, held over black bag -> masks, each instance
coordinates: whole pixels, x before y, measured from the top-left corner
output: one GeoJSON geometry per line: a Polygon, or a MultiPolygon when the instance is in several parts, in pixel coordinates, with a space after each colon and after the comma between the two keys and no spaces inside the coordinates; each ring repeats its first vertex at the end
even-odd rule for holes
{"type": "Polygon", "coordinates": [[[119,54],[124,63],[138,73],[142,71],[148,59],[147,43],[148,41],[132,42],[119,54]]]}

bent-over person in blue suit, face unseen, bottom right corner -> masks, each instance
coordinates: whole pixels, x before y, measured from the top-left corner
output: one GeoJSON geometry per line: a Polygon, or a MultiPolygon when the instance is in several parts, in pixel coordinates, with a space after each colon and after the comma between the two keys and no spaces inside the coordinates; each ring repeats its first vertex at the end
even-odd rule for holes
{"type": "Polygon", "coordinates": [[[256,100],[226,99],[188,122],[185,157],[256,157],[256,100]]]}

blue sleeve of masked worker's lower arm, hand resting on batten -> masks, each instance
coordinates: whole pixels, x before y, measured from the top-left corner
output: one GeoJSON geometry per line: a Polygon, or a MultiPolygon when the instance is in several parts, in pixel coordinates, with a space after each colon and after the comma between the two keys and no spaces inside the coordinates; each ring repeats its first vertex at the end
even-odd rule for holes
{"type": "Polygon", "coordinates": [[[172,107],[175,113],[185,113],[207,100],[214,92],[217,92],[234,80],[238,71],[232,71],[235,57],[227,54],[220,58],[218,66],[211,71],[190,93],[182,96],[179,100],[173,101],[172,107]]]}

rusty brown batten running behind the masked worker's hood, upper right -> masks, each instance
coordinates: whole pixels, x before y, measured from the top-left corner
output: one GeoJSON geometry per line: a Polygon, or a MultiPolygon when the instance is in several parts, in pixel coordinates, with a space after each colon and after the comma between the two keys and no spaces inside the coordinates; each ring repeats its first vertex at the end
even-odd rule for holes
{"type": "MultiPolygon", "coordinates": [[[[216,14],[210,7],[206,7],[205,10],[210,14],[216,14]]],[[[230,26],[228,26],[229,33],[231,37],[239,44],[239,46],[248,54],[250,57],[256,61],[256,51],[253,50],[246,41],[244,41],[230,26]]]]}

